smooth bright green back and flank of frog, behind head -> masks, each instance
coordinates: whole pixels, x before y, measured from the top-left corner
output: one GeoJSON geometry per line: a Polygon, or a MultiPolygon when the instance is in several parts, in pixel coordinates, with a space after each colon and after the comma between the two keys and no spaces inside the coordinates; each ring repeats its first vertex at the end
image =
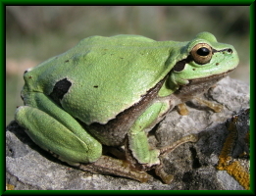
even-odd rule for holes
{"type": "Polygon", "coordinates": [[[31,69],[25,78],[37,75],[30,88],[59,99],[82,122],[107,123],[171,71],[173,65],[166,63],[170,45],[138,35],[92,36],[31,69]]]}

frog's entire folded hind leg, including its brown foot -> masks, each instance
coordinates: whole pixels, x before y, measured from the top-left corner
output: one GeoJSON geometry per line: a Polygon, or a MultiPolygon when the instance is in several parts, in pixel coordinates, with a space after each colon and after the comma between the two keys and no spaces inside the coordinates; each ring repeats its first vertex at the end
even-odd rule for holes
{"type": "Polygon", "coordinates": [[[149,178],[147,172],[132,171],[124,160],[102,156],[102,145],[42,93],[26,93],[26,106],[17,109],[15,119],[38,146],[82,171],[121,175],[141,182],[149,178]]]}

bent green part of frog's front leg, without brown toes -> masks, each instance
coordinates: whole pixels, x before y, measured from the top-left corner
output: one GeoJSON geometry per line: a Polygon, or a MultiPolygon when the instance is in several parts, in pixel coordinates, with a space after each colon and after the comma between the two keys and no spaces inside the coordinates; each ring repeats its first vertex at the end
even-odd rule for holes
{"type": "Polygon", "coordinates": [[[151,105],[131,126],[128,131],[128,145],[133,157],[140,164],[149,166],[159,163],[159,150],[150,150],[144,128],[154,123],[157,118],[168,110],[167,103],[157,102],[151,105]]]}

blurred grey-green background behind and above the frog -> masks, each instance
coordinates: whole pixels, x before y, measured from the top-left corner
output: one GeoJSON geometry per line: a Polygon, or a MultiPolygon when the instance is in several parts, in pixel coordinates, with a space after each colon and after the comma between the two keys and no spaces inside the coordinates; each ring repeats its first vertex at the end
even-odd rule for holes
{"type": "Polygon", "coordinates": [[[6,123],[14,119],[27,68],[91,35],[140,34],[188,41],[212,32],[239,54],[231,77],[249,83],[249,6],[7,6],[6,123]]]}

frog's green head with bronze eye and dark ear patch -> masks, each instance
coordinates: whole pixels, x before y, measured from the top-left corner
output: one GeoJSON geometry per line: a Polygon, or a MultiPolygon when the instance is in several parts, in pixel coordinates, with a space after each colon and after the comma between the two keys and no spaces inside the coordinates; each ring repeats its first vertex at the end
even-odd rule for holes
{"type": "Polygon", "coordinates": [[[172,69],[167,82],[176,92],[190,85],[187,94],[193,87],[209,88],[235,69],[239,61],[231,45],[217,42],[209,32],[201,32],[186,42],[180,48],[179,56],[181,60],[172,69]]]}

